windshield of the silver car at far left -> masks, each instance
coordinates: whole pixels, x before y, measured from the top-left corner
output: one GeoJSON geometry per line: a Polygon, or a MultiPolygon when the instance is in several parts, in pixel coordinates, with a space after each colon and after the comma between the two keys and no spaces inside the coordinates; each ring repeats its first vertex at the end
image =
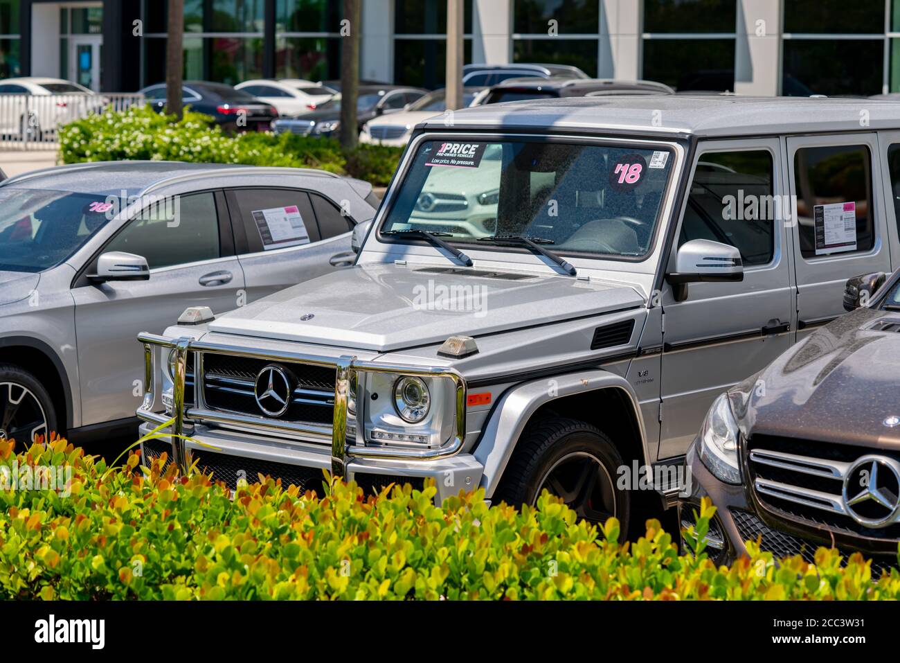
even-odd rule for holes
{"type": "Polygon", "coordinates": [[[58,265],[116,206],[105,195],[0,187],[0,269],[40,272],[58,265]]]}

